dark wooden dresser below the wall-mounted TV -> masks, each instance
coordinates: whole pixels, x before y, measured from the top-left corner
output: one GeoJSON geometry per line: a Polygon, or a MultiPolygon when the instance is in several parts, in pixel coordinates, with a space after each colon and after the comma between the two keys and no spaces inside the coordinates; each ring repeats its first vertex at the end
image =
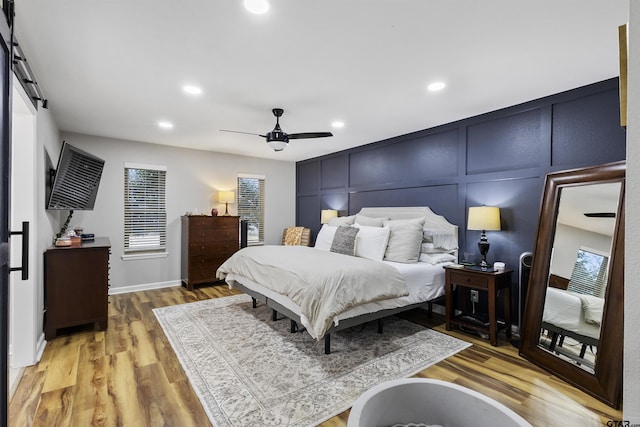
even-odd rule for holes
{"type": "Polygon", "coordinates": [[[44,253],[44,337],[58,329],[95,323],[107,329],[109,254],[106,237],[78,246],[52,246],[44,253]]]}

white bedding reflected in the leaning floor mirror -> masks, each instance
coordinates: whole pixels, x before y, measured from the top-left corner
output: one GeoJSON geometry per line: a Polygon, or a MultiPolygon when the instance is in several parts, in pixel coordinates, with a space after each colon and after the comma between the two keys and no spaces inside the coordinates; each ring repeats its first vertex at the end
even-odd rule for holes
{"type": "Polygon", "coordinates": [[[599,339],[600,324],[599,320],[594,318],[598,308],[594,308],[593,305],[599,306],[599,312],[602,313],[604,300],[598,298],[600,300],[598,302],[593,298],[571,291],[548,287],[542,321],[579,335],[599,339]],[[591,305],[591,307],[588,307],[588,305],[591,305]],[[587,310],[585,311],[585,309],[587,310]]]}

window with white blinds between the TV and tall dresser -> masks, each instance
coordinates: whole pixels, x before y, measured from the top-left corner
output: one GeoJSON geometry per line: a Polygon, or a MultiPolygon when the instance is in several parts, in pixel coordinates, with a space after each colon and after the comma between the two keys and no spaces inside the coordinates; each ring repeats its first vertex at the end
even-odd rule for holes
{"type": "Polygon", "coordinates": [[[124,251],[166,249],[165,166],[124,165],[124,251]]]}

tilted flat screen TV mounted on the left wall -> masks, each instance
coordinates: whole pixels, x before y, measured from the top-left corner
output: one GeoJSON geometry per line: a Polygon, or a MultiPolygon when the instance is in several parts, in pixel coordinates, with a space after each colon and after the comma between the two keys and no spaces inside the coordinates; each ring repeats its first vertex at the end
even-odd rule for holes
{"type": "Polygon", "coordinates": [[[92,210],[104,160],[62,143],[47,209],[92,210]]]}

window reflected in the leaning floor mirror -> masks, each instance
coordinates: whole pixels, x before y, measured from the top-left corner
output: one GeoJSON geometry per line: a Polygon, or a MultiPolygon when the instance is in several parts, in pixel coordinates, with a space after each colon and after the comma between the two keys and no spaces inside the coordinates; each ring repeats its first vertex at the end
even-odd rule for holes
{"type": "Polygon", "coordinates": [[[567,290],[604,298],[608,264],[608,256],[580,248],[567,290]]]}

